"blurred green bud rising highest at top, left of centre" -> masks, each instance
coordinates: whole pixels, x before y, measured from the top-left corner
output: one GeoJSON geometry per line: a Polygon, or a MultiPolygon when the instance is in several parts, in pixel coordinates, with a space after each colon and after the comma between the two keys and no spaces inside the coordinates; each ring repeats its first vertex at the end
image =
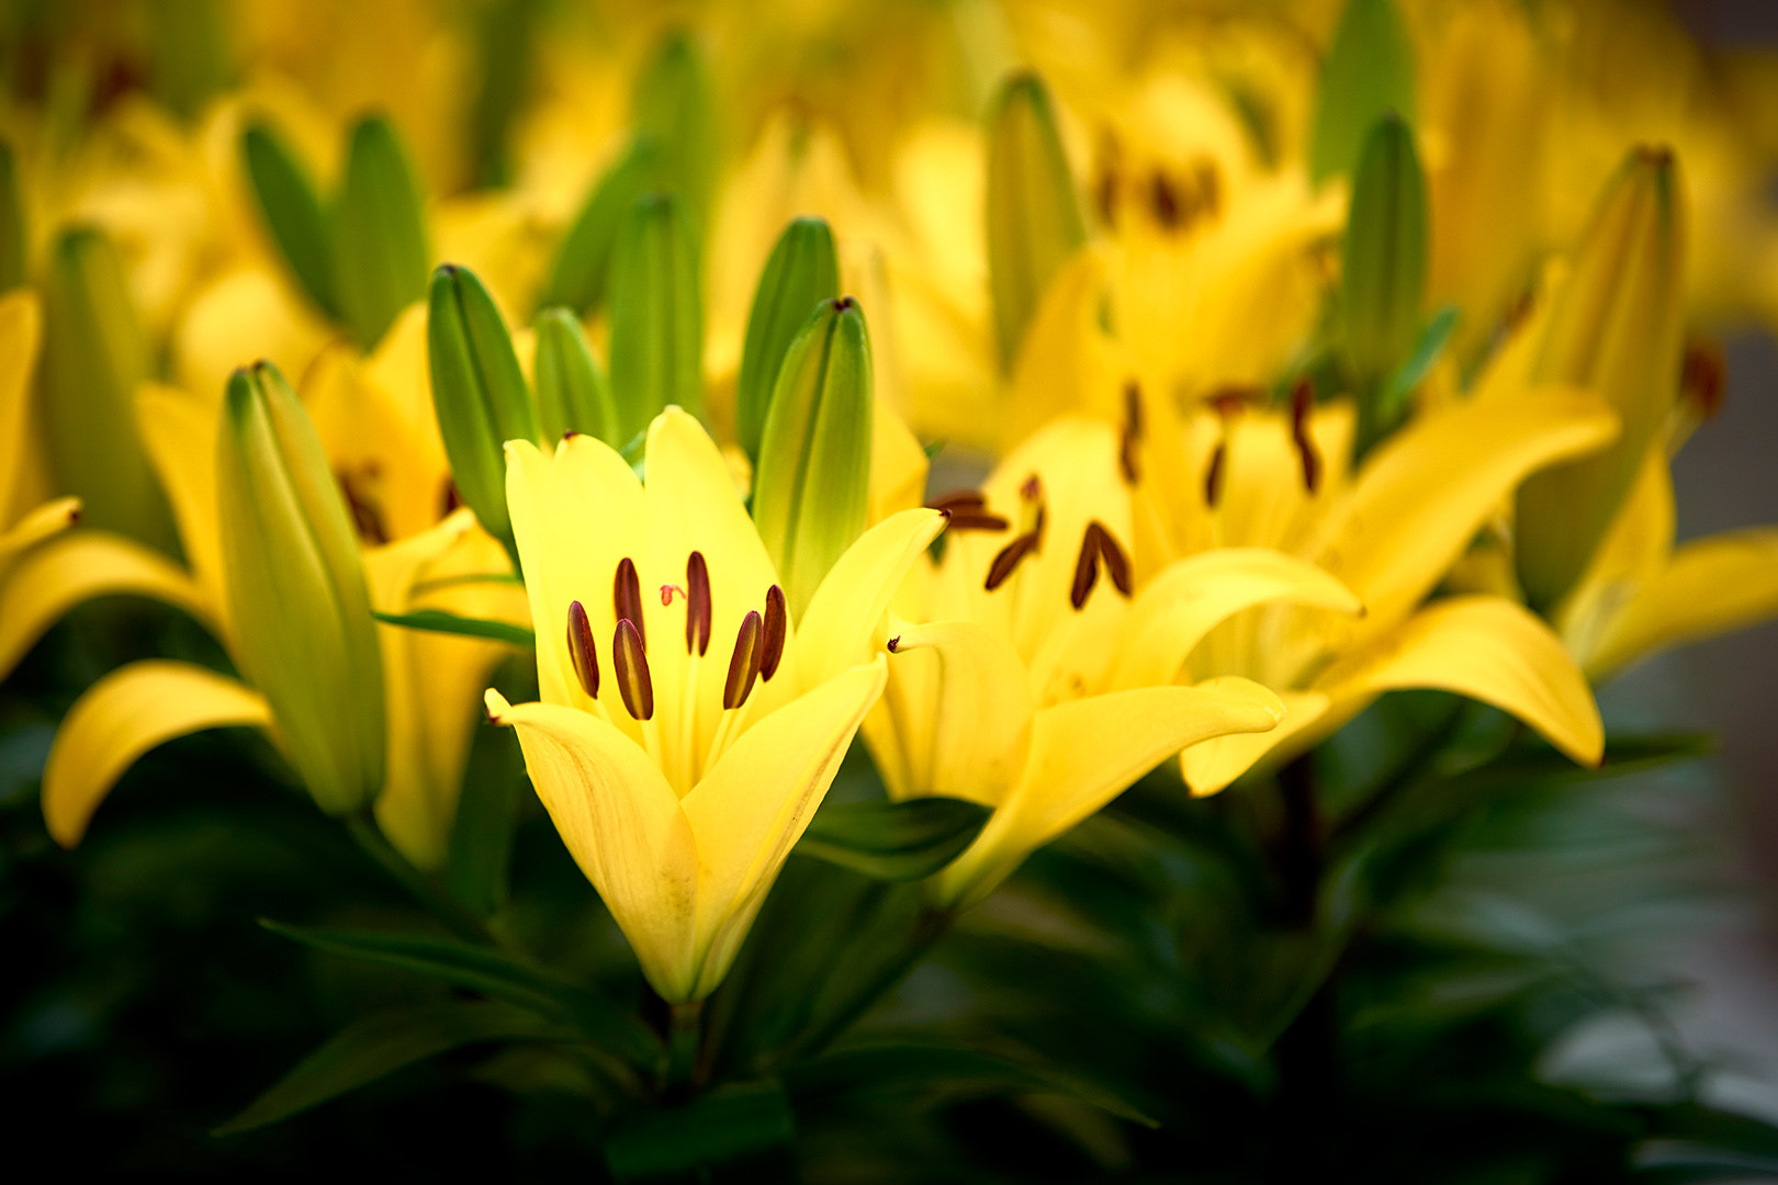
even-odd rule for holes
{"type": "Polygon", "coordinates": [[[660,146],[660,185],[685,203],[693,231],[704,226],[715,190],[717,103],[704,52],[686,32],[661,41],[637,78],[629,123],[660,146]]]}

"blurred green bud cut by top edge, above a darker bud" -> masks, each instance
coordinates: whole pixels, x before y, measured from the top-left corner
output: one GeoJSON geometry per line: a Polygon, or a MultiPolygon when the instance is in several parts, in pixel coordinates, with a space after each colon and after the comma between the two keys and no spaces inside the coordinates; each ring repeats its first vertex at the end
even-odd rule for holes
{"type": "Polygon", "coordinates": [[[1414,46],[1392,0],[1351,0],[1334,32],[1309,171],[1316,183],[1350,172],[1364,137],[1387,114],[1414,119],[1414,46]]]}

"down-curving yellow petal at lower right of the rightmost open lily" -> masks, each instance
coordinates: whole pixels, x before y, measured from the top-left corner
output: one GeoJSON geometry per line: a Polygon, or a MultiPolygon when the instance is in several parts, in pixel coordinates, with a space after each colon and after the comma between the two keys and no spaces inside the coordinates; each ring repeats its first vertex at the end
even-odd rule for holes
{"type": "Polygon", "coordinates": [[[1501,597],[1435,600],[1316,680],[1317,691],[1348,705],[1408,688],[1492,704],[1586,766],[1597,766],[1604,752],[1598,707],[1566,647],[1542,620],[1501,597]]]}

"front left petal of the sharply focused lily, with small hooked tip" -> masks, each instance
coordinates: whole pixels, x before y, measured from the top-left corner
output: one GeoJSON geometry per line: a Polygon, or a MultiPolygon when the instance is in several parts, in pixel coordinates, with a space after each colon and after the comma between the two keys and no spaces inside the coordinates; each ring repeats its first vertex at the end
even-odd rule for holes
{"type": "Polygon", "coordinates": [[[642,974],[667,1000],[692,998],[697,844],[661,771],[635,741],[580,709],[512,705],[489,691],[487,714],[519,730],[537,798],[642,974]]]}

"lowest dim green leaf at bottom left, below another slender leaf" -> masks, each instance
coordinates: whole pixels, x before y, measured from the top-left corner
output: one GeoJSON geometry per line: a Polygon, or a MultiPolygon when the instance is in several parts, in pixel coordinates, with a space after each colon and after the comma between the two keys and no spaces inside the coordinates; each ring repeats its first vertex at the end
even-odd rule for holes
{"type": "Polygon", "coordinates": [[[347,1025],[212,1135],[279,1123],[384,1075],[480,1041],[560,1039],[571,1032],[505,1004],[453,1000],[347,1025]]]}

